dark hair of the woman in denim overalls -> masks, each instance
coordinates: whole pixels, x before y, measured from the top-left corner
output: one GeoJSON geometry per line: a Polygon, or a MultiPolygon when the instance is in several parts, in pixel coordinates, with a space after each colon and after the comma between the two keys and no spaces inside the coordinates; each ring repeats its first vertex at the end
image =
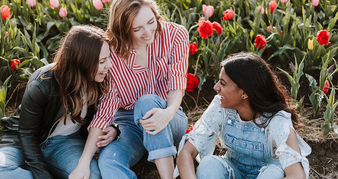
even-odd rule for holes
{"type": "MultiPolygon", "coordinates": [[[[284,110],[291,113],[292,124],[298,128],[298,114],[291,106],[292,98],[288,90],[278,81],[269,65],[258,55],[241,52],[228,56],[222,63],[227,76],[244,92],[247,93],[250,106],[254,110],[253,119],[257,113],[275,115],[284,110]]],[[[278,115],[278,114],[277,114],[278,115]]],[[[271,118],[271,116],[264,116],[271,118]]],[[[256,123],[255,120],[253,120],[256,123]]],[[[257,124],[258,125],[258,124],[257,124]]],[[[264,124],[264,126],[268,123],[264,124]]]]}

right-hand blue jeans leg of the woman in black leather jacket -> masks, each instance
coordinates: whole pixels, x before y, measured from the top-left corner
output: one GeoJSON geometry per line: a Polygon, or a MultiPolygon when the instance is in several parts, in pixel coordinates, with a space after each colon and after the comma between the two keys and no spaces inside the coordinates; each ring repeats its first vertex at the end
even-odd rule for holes
{"type": "MultiPolygon", "coordinates": [[[[84,151],[85,140],[80,131],[68,136],[54,136],[41,144],[43,158],[49,171],[62,179],[68,179],[79,163],[84,151]]],[[[90,179],[101,179],[95,158],[90,162],[90,179]]]]}

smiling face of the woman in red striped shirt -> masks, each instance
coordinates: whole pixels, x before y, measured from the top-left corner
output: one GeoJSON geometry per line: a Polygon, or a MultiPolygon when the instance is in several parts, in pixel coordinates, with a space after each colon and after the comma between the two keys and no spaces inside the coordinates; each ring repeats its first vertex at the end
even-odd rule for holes
{"type": "Polygon", "coordinates": [[[154,41],[157,21],[152,9],[143,5],[132,23],[134,47],[139,48],[154,41]]]}

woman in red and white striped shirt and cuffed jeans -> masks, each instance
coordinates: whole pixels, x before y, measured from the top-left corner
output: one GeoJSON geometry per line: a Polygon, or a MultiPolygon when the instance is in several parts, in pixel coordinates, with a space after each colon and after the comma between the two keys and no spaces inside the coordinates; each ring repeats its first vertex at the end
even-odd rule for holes
{"type": "Polygon", "coordinates": [[[114,121],[121,135],[100,149],[101,176],[136,179],[130,168],[148,151],[161,178],[172,179],[175,145],[187,126],[180,103],[187,81],[188,31],[162,21],[155,0],[113,0],[106,32],[114,68],[108,97],[100,98],[89,127],[104,128],[114,121]]]}

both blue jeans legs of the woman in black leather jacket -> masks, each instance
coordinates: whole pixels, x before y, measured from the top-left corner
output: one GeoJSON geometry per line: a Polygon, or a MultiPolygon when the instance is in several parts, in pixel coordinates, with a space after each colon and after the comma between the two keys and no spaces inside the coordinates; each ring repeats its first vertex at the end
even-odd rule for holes
{"type": "MultiPolygon", "coordinates": [[[[42,143],[41,151],[48,170],[62,179],[68,176],[77,167],[79,159],[84,151],[85,140],[76,132],[69,136],[54,136],[42,143]]],[[[19,179],[32,179],[32,173],[20,168],[24,165],[24,158],[20,148],[4,147],[0,149],[0,171],[10,179],[18,176],[19,179]],[[4,160],[2,160],[4,158],[4,160]],[[4,161],[4,164],[2,162],[4,161]],[[9,177],[11,176],[11,177],[9,177]]],[[[101,179],[98,164],[95,158],[90,163],[90,179],[101,179]]]]}

